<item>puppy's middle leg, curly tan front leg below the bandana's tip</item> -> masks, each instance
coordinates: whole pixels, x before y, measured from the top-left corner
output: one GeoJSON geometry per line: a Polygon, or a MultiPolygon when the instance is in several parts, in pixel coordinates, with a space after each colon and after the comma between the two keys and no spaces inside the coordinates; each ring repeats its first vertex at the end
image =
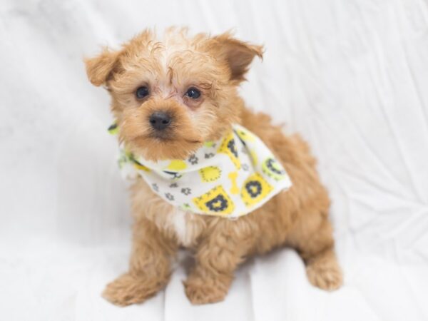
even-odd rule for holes
{"type": "Polygon", "coordinates": [[[185,280],[185,293],[193,304],[221,301],[228,293],[236,267],[248,254],[252,240],[245,218],[220,218],[215,230],[198,245],[195,267],[185,280]],[[243,226],[235,226],[242,224],[243,226]]]}

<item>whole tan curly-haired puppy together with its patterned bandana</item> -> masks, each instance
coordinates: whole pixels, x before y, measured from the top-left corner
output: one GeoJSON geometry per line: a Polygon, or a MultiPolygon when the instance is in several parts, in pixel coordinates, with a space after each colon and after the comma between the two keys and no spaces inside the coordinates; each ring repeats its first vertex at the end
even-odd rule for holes
{"type": "Polygon", "coordinates": [[[223,300],[245,258],[282,246],[300,253],[312,285],[335,290],[342,284],[328,218],[330,200],[307,144],[300,136],[285,136],[269,116],[248,109],[238,95],[253,58],[262,55],[262,46],[229,33],[188,36],[185,29],[172,28],[161,37],[143,31],[117,51],[106,48],[86,59],[91,83],[105,86],[111,95],[113,128],[117,126],[118,139],[126,148],[125,163],[133,163],[141,173],[133,177],[131,187],[134,222],[129,270],[107,285],[103,292],[107,300],[131,305],[155,295],[167,284],[180,247],[195,256],[195,265],[183,282],[193,304],[223,300]],[[277,163],[265,163],[272,165],[272,175],[268,176],[269,168],[258,165],[263,161],[258,161],[260,156],[250,157],[253,152],[244,151],[252,140],[245,140],[245,135],[272,153],[277,163]],[[220,163],[228,159],[235,163],[205,163],[211,165],[195,167],[193,173],[198,166],[193,165],[195,153],[201,151],[208,161],[213,156],[220,163]],[[233,158],[238,153],[247,158],[233,158]],[[253,185],[248,185],[250,178],[238,181],[240,174],[228,174],[231,164],[236,165],[236,173],[253,170],[253,185]],[[224,183],[204,195],[183,195],[203,187],[198,173],[210,184],[224,175],[224,183]],[[193,176],[185,180],[185,175],[193,176]],[[171,191],[178,187],[183,193],[162,193],[159,183],[165,181],[171,191]],[[187,189],[180,189],[183,181],[187,189]],[[270,193],[276,185],[283,191],[270,193]],[[253,196],[263,189],[265,200],[251,207],[253,196]],[[173,193],[188,203],[178,206],[173,193]],[[208,201],[210,195],[215,198],[208,201]]]}

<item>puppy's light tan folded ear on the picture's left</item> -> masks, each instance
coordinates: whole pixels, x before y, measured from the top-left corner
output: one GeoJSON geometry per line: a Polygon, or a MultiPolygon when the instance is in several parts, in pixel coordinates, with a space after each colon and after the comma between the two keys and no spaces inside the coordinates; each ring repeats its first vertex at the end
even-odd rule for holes
{"type": "Polygon", "coordinates": [[[120,51],[111,51],[108,48],[104,48],[98,56],[84,59],[86,73],[93,85],[101,86],[106,83],[116,63],[118,63],[120,53],[120,51]]]}

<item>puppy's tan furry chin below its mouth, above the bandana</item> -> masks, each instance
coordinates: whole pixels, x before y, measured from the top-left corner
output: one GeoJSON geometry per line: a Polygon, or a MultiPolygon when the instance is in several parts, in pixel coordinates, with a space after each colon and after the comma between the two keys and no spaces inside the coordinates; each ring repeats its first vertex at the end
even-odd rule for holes
{"type": "Polygon", "coordinates": [[[131,152],[148,161],[163,161],[167,159],[186,159],[194,153],[203,141],[191,138],[171,137],[156,134],[146,137],[138,137],[129,142],[131,152]]]}

